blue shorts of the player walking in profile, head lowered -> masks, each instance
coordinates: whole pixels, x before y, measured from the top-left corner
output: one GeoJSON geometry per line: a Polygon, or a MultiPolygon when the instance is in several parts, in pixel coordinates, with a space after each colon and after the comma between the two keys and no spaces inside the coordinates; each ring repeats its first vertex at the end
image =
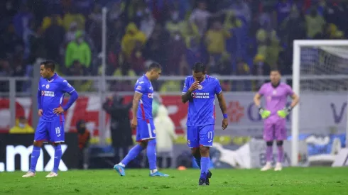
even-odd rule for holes
{"type": "Polygon", "coordinates": [[[138,119],[136,126],[136,141],[151,140],[156,138],[156,128],[153,124],[153,119],[138,119]]]}

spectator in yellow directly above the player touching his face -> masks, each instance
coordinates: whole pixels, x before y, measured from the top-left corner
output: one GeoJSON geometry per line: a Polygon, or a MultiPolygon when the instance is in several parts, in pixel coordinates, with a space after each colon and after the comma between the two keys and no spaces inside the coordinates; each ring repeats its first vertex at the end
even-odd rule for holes
{"type": "Polygon", "coordinates": [[[207,31],[205,43],[210,55],[222,55],[225,50],[225,43],[231,34],[222,28],[222,23],[214,21],[212,28],[207,31]]]}

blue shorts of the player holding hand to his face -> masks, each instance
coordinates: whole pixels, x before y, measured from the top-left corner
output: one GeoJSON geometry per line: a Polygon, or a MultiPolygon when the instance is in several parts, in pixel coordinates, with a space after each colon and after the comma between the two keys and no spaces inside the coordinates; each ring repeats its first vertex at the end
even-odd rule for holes
{"type": "Polygon", "coordinates": [[[214,140],[214,125],[207,126],[188,126],[187,145],[188,147],[212,147],[214,140]]]}

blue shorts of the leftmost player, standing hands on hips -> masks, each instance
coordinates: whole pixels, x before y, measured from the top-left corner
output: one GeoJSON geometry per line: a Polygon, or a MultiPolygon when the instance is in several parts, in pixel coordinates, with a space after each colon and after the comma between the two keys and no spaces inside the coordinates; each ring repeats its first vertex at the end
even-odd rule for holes
{"type": "Polygon", "coordinates": [[[65,141],[64,122],[60,119],[53,121],[38,121],[34,141],[63,143],[65,141]]]}

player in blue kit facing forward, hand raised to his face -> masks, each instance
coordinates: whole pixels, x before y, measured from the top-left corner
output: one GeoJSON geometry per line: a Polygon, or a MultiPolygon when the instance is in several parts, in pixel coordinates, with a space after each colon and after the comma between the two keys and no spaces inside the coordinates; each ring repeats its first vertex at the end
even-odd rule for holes
{"type": "Polygon", "coordinates": [[[205,65],[196,62],[192,67],[192,76],[186,77],[181,100],[188,104],[187,114],[187,145],[200,167],[199,185],[209,185],[212,172],[209,171],[209,149],[214,140],[215,125],[215,94],[219,100],[224,119],[222,129],[228,126],[227,108],[220,82],[217,78],[206,74],[205,65]]]}

